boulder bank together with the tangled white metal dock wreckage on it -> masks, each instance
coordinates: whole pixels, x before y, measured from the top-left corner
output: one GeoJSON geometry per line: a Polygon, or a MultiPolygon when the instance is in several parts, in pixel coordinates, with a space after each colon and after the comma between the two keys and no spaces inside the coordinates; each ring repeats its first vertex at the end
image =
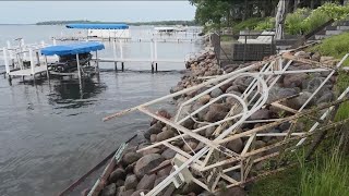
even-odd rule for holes
{"type": "Polygon", "coordinates": [[[244,195],[237,186],[278,170],[313,133],[347,122],[329,121],[348,100],[349,88],[335,93],[347,57],[337,62],[298,49],[220,69],[205,48],[170,95],[105,119],[139,110],[153,121],[146,142],[129,146],[99,179],[101,195],[244,195]],[[176,113],[152,110],[168,99],[176,113]]]}

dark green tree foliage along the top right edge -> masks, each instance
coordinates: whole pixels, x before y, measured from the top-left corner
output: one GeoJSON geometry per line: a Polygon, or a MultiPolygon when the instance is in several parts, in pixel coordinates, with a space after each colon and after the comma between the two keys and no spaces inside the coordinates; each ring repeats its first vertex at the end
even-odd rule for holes
{"type": "MultiPolygon", "coordinates": [[[[298,8],[315,9],[325,2],[344,4],[346,0],[286,0],[287,12],[298,8]]],[[[196,7],[195,21],[200,25],[212,23],[231,26],[234,21],[275,16],[279,0],[189,0],[196,7]]]]}

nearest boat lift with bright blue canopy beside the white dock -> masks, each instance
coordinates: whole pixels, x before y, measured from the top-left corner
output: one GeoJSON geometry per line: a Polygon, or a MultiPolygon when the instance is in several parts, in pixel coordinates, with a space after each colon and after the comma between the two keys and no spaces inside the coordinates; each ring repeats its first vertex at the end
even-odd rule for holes
{"type": "MultiPolygon", "coordinates": [[[[105,46],[100,42],[86,41],[74,42],[69,45],[50,46],[41,49],[41,54],[45,56],[59,56],[60,61],[47,64],[50,74],[56,75],[72,75],[71,71],[77,70],[77,76],[81,82],[82,72],[85,75],[83,65],[89,65],[92,54],[89,52],[96,52],[96,59],[98,59],[98,50],[105,49],[105,46]],[[75,56],[75,57],[74,57],[75,56]]],[[[96,61],[95,73],[99,72],[98,61],[96,61]]]]}

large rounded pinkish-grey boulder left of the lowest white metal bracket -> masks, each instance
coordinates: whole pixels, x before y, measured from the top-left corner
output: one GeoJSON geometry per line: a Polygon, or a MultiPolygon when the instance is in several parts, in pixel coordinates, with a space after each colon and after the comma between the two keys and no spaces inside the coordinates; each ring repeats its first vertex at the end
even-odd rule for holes
{"type": "Polygon", "coordinates": [[[146,155],[137,160],[133,172],[141,179],[145,173],[158,167],[164,160],[165,159],[158,154],[146,155]]]}

